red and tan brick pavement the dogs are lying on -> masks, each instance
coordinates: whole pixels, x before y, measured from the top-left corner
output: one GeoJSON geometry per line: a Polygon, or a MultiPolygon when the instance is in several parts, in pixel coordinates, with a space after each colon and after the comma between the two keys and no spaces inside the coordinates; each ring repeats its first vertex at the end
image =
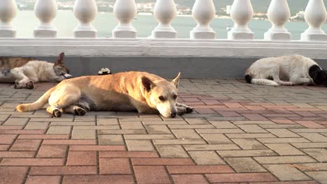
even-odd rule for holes
{"type": "Polygon", "coordinates": [[[0,85],[0,183],[327,183],[327,89],[182,79],[177,118],[17,113],[0,85]]]}

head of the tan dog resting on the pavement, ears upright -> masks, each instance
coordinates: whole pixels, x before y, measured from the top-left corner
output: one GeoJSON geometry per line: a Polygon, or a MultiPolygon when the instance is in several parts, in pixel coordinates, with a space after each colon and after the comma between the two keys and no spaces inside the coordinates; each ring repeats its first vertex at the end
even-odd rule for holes
{"type": "Polygon", "coordinates": [[[162,116],[175,118],[177,116],[176,102],[180,73],[172,82],[165,79],[151,81],[147,77],[142,77],[141,80],[147,104],[157,109],[162,116]]]}

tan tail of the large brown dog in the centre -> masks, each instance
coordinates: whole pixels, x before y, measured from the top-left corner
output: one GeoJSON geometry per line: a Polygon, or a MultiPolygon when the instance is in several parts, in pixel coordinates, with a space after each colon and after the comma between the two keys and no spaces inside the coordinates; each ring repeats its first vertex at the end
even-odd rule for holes
{"type": "Polygon", "coordinates": [[[41,96],[41,98],[38,98],[38,100],[36,100],[36,102],[18,105],[16,107],[17,111],[18,112],[29,112],[29,111],[41,109],[44,105],[46,105],[48,103],[48,99],[50,98],[52,91],[54,91],[54,87],[52,89],[49,89],[47,92],[45,92],[41,96]]]}

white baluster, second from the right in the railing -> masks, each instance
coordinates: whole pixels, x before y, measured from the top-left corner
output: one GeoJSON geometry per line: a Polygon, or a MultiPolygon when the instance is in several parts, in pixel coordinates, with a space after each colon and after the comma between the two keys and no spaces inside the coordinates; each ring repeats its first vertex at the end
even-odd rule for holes
{"type": "Polygon", "coordinates": [[[285,29],[289,17],[291,12],[287,0],[271,0],[268,20],[273,26],[265,33],[265,40],[291,40],[291,33],[285,29]]]}

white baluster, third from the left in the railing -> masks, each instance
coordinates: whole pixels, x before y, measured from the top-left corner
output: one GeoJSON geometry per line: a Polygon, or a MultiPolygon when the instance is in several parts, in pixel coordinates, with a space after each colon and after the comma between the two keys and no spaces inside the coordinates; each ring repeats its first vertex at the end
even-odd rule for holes
{"type": "Polygon", "coordinates": [[[95,0],[76,0],[74,14],[79,24],[74,29],[74,36],[78,38],[96,38],[97,32],[91,22],[98,13],[95,0]]]}

